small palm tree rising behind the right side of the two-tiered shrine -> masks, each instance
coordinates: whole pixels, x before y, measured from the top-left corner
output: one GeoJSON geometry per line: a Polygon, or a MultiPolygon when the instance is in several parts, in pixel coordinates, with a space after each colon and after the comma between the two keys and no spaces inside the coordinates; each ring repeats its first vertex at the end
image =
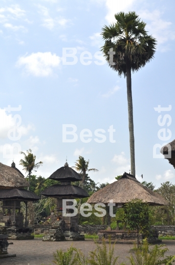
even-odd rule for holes
{"type": "Polygon", "coordinates": [[[79,159],[76,161],[77,162],[75,162],[75,166],[72,166],[72,168],[74,168],[75,170],[80,172],[80,174],[83,175],[83,180],[81,182],[81,186],[83,187],[85,184],[86,172],[88,172],[88,171],[97,172],[98,169],[96,169],[96,168],[88,169],[89,160],[85,161],[85,159],[81,156],[79,156],[79,159]]]}

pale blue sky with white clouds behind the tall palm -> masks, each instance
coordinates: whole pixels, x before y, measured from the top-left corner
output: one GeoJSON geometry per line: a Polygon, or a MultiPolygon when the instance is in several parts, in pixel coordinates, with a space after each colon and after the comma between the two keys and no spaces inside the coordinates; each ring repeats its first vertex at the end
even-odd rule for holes
{"type": "Polygon", "coordinates": [[[14,159],[22,170],[19,148],[23,152],[30,148],[36,162],[44,162],[36,175],[45,178],[64,165],[66,156],[73,166],[79,155],[89,159],[89,168],[99,170],[89,174],[96,183],[111,183],[129,172],[126,79],[94,54],[103,45],[101,28],[114,22],[114,14],[136,11],[157,39],[154,59],[132,75],[136,175],[141,181],[143,174],[143,180],[156,187],[165,181],[175,183],[173,166],[166,159],[153,158],[155,144],[175,139],[174,9],[170,0],[1,0],[0,162],[10,165],[14,159]],[[76,64],[64,63],[64,48],[76,49],[76,64]],[[91,62],[84,65],[81,58],[87,52],[91,62]],[[154,110],[158,105],[172,109],[158,113],[154,110]],[[22,109],[8,112],[7,106],[22,109]],[[165,114],[172,122],[167,126],[167,119],[160,126],[158,116],[165,114]],[[63,142],[63,124],[76,126],[77,141],[63,142]],[[109,140],[110,126],[115,142],[109,140]],[[85,138],[91,139],[87,143],[80,138],[84,129],[92,133],[85,138]],[[106,141],[94,140],[102,140],[94,135],[97,129],[106,141]],[[169,129],[171,138],[159,139],[161,129],[167,136],[169,129]],[[12,139],[13,132],[19,137],[12,139]],[[17,144],[14,151],[13,144],[17,144]]]}

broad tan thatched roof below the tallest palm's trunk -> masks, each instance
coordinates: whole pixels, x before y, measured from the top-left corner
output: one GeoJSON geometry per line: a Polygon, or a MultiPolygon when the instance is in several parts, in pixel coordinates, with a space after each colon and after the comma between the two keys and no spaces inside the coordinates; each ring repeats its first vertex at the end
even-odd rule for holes
{"type": "Polygon", "coordinates": [[[150,205],[167,204],[167,201],[161,195],[148,189],[128,173],[124,173],[118,181],[93,193],[87,200],[87,203],[107,204],[113,200],[113,203],[124,204],[132,199],[140,199],[150,205]]]}

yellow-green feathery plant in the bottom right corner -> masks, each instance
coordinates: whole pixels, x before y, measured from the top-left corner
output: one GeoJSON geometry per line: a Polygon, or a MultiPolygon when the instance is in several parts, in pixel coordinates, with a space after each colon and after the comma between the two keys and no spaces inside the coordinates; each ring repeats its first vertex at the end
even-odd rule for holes
{"type": "Polygon", "coordinates": [[[155,245],[149,249],[147,239],[143,240],[143,245],[134,247],[133,254],[129,257],[131,265],[172,265],[175,256],[164,258],[168,248],[165,245],[155,245]]]}

